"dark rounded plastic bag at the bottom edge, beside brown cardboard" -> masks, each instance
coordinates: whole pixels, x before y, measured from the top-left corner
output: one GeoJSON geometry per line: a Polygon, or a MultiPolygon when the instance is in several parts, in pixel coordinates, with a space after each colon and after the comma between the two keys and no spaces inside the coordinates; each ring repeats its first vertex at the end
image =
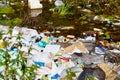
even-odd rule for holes
{"type": "Polygon", "coordinates": [[[77,80],[105,80],[105,72],[98,66],[85,67],[77,80]]]}

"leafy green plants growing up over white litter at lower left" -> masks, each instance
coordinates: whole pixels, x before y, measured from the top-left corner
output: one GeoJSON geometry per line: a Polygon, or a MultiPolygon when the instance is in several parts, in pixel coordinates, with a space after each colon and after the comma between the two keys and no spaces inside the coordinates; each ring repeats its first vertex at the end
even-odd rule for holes
{"type": "MultiPolygon", "coordinates": [[[[9,30],[10,32],[8,34],[11,35],[12,29],[9,30]]],[[[2,31],[1,34],[2,36],[2,31]]],[[[16,39],[18,42],[22,39],[22,34],[18,34],[16,39]]],[[[10,36],[13,38],[14,36],[10,36]]],[[[4,42],[6,41],[5,39],[4,42]]],[[[14,43],[14,42],[13,42],[14,43]]],[[[20,42],[21,43],[21,42],[20,42]]],[[[1,44],[1,43],[0,43],[1,44]]],[[[24,52],[19,50],[19,47],[21,45],[15,46],[15,50],[8,49],[9,47],[14,47],[10,46],[11,43],[6,44],[6,47],[0,48],[0,68],[4,66],[4,69],[0,71],[0,80],[16,80],[18,79],[17,77],[20,78],[20,80],[31,80],[32,78],[35,78],[36,73],[35,71],[38,69],[37,65],[31,65],[27,66],[27,58],[23,56],[24,52]]],[[[22,43],[21,43],[22,44],[22,43]]],[[[31,46],[30,49],[28,50],[28,53],[32,50],[31,46]]],[[[30,54],[28,54],[29,56],[30,54]]]]}

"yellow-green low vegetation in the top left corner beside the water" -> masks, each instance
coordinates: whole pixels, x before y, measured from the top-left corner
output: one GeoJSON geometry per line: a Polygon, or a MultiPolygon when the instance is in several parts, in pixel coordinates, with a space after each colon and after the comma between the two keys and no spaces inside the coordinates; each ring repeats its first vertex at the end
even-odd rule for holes
{"type": "Polygon", "coordinates": [[[8,5],[4,8],[0,8],[0,24],[7,25],[10,27],[14,27],[21,24],[22,20],[19,17],[12,17],[12,16],[16,14],[15,13],[16,11],[21,10],[22,5],[19,0],[18,1],[9,0],[9,4],[13,2],[16,8],[14,8],[14,6],[11,5],[8,5]]]}

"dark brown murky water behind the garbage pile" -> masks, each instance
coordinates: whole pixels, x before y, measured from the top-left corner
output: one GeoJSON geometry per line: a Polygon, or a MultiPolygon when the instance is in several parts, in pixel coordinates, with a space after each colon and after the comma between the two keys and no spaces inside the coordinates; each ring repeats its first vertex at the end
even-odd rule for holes
{"type": "Polygon", "coordinates": [[[37,10],[30,10],[27,3],[23,7],[13,5],[12,7],[16,9],[16,11],[15,14],[11,14],[10,17],[21,18],[23,21],[20,26],[33,28],[38,32],[45,29],[53,31],[56,30],[56,27],[72,26],[74,29],[62,30],[62,34],[69,33],[75,36],[80,36],[80,33],[83,31],[93,30],[94,27],[105,27],[102,23],[92,21],[92,18],[96,16],[95,14],[81,12],[82,8],[78,8],[77,6],[70,9],[74,14],[60,16],[50,11],[51,8],[55,7],[54,2],[42,1],[41,4],[43,4],[43,8],[37,10]],[[20,11],[18,9],[20,9],[20,11]]]}

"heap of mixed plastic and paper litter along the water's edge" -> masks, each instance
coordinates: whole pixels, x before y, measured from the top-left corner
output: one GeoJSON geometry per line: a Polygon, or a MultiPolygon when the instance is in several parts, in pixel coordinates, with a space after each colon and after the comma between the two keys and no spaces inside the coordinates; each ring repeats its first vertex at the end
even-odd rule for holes
{"type": "MultiPolygon", "coordinates": [[[[107,78],[112,74],[112,71],[116,72],[114,73],[116,77],[120,77],[120,67],[118,67],[120,63],[120,45],[111,44],[112,47],[117,45],[117,48],[112,50],[108,50],[103,45],[94,48],[96,42],[94,35],[86,36],[84,39],[76,38],[74,35],[54,36],[47,30],[38,33],[33,29],[20,27],[10,29],[2,25],[0,25],[0,32],[2,34],[0,49],[7,48],[11,52],[12,59],[16,58],[18,50],[23,51],[23,57],[27,58],[26,65],[31,66],[34,64],[39,67],[36,70],[34,80],[86,80],[88,77],[109,80],[107,78]],[[9,43],[9,46],[5,42],[9,43]],[[92,49],[94,51],[91,52],[92,49]],[[110,53],[107,53],[107,51],[110,53]],[[91,54],[89,54],[90,52],[91,54]],[[117,59],[116,55],[119,56],[117,59]],[[111,58],[113,56],[114,61],[111,58]],[[104,69],[107,67],[106,65],[111,70],[109,75],[108,71],[104,69]],[[117,68],[114,69],[114,66],[117,68]],[[93,73],[93,70],[100,70],[101,73],[96,73],[97,71],[93,73]],[[87,72],[92,74],[85,78],[87,72]],[[97,77],[95,77],[95,74],[98,74],[97,77]],[[104,78],[100,78],[99,74],[104,78]],[[79,78],[81,75],[84,76],[84,79],[79,78]]],[[[0,55],[0,60],[3,60],[2,56],[0,55]]],[[[0,72],[2,73],[4,69],[5,67],[1,66],[0,72]]]]}

